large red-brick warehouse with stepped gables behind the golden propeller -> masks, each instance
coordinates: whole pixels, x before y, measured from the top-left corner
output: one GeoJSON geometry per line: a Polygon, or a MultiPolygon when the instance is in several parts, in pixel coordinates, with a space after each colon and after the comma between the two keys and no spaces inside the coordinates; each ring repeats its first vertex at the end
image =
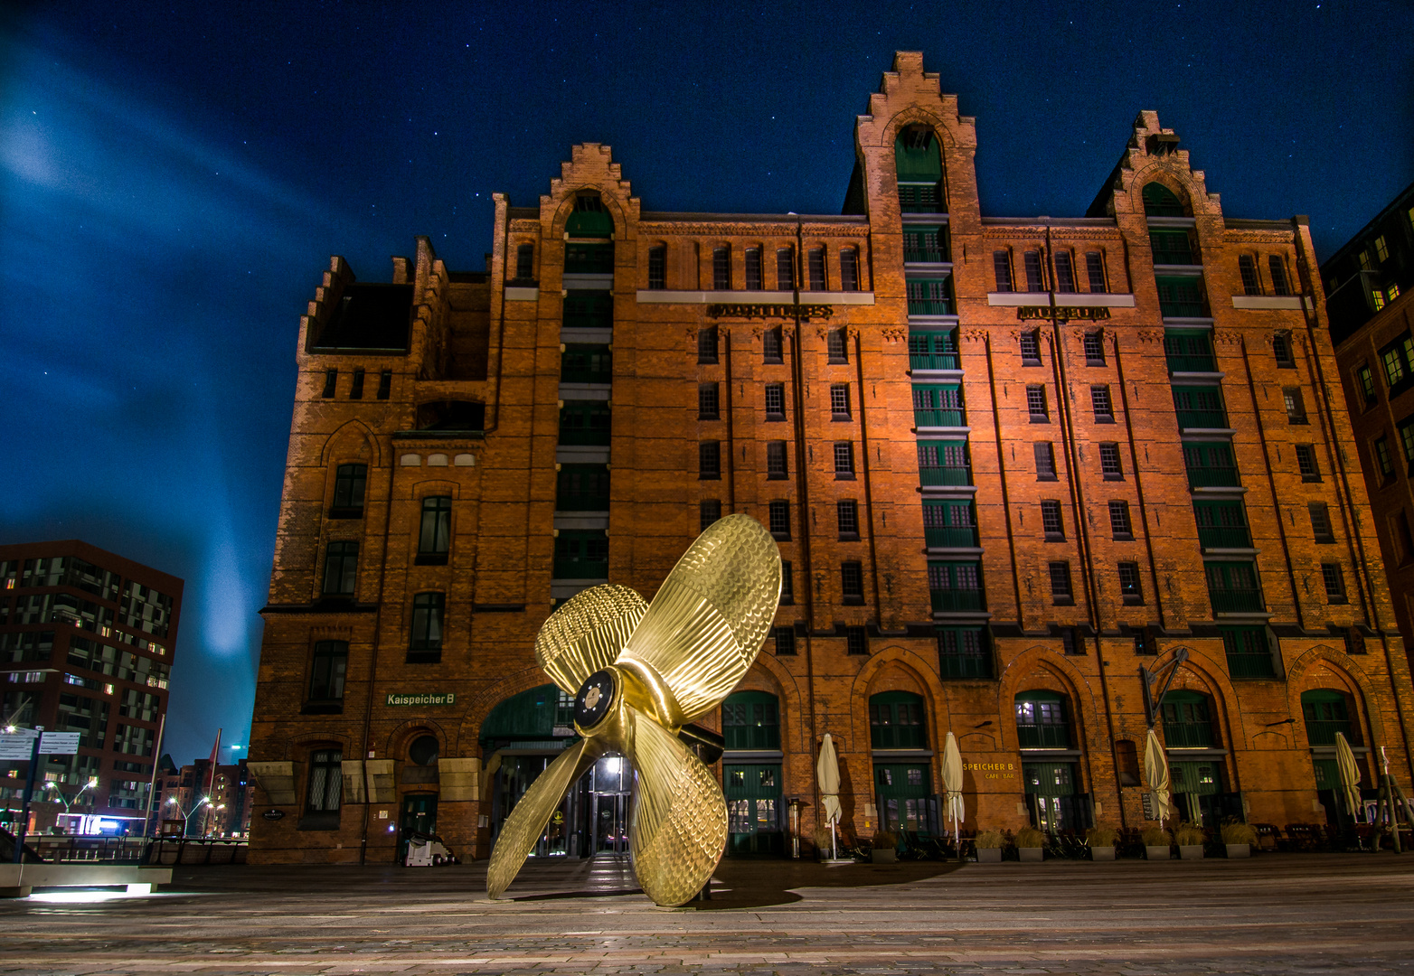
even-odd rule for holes
{"type": "MultiPolygon", "coordinates": [[[[730,852],[847,828],[1143,818],[1141,668],[1191,818],[1325,819],[1333,734],[1408,774],[1414,705],[1304,218],[1223,213],[1145,112],[1085,216],[984,216],[973,120],[901,52],[839,216],[645,210],[577,145],[496,198],[489,271],[427,239],[300,323],[252,732],[252,860],[485,856],[573,734],[556,602],[652,597],[725,513],[779,540],[776,629],[718,716],[730,852]]],[[[783,202],[782,209],[788,209],[783,202]]],[[[1367,775],[1367,773],[1366,773],[1367,775]]],[[[1366,778],[1369,784],[1369,778],[1366,778]]],[[[624,849],[587,774],[540,853],[624,849]]]]}

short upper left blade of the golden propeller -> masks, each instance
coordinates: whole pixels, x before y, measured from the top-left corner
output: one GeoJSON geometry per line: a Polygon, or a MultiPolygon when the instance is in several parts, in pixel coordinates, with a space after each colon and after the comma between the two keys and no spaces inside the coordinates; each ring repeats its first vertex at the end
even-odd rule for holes
{"type": "Polygon", "coordinates": [[[534,638],[534,657],[550,679],[570,695],[608,667],[648,612],[628,586],[605,583],[575,593],[550,614],[534,638]]]}

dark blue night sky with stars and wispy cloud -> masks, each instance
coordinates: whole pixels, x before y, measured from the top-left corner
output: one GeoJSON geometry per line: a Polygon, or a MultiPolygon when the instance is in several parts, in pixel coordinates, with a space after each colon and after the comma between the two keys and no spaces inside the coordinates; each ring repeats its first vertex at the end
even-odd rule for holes
{"type": "Polygon", "coordinates": [[[189,763],[249,732],[329,254],[386,281],[427,234],[482,270],[491,194],[536,203],[581,141],[645,209],[839,213],[895,49],[977,117],[993,216],[1082,215],[1141,109],[1226,213],[1308,213],[1322,256],[1414,179],[1407,4],[1055,6],[7,4],[0,542],[187,581],[164,751],[189,763]]]}

